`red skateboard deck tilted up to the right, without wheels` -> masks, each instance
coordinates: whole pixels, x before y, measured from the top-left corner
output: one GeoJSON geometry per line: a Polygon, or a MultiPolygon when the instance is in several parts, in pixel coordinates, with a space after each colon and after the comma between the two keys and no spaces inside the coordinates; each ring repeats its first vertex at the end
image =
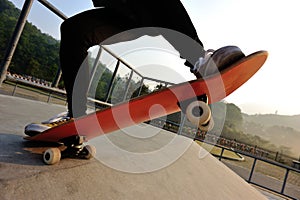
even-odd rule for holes
{"type": "MultiPolygon", "coordinates": [[[[258,51],[232,64],[220,73],[165,88],[128,102],[99,110],[66,124],[51,128],[27,140],[61,142],[80,135],[86,140],[183,110],[182,102],[207,96],[218,102],[247,82],[265,63],[266,51],[258,51]]],[[[142,133],[141,133],[142,134],[142,133]]]]}

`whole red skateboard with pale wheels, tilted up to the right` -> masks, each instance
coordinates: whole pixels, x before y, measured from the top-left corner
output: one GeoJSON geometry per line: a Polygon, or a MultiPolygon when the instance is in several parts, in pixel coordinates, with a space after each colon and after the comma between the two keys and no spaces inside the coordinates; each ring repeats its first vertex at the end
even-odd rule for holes
{"type": "Polygon", "coordinates": [[[49,148],[43,153],[46,164],[55,164],[61,157],[93,157],[95,147],[83,143],[94,137],[178,111],[185,113],[200,130],[209,131],[213,127],[209,104],[224,99],[247,82],[267,57],[266,51],[252,53],[219,73],[113,105],[25,139],[63,145],[64,150],[49,148]]]}

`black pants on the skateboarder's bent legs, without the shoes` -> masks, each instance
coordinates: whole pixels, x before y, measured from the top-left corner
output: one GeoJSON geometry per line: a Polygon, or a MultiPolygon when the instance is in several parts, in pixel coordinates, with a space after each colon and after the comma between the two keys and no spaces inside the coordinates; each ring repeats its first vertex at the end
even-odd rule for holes
{"type": "Polygon", "coordinates": [[[76,91],[74,92],[73,87],[78,70],[87,57],[87,50],[103,41],[106,42],[105,44],[130,41],[141,37],[144,33],[135,35],[125,34],[122,37],[114,38],[114,40],[107,40],[113,35],[141,27],[166,28],[166,31],[163,32],[152,29],[153,31],[147,34],[151,36],[162,35],[178,50],[182,58],[195,63],[203,53],[203,45],[185,10],[183,13],[181,16],[172,16],[171,19],[171,16],[169,19],[164,16],[159,18],[157,17],[158,13],[154,13],[156,19],[153,18],[154,20],[151,20],[151,22],[146,20],[143,23],[141,20],[135,20],[134,17],[132,18],[132,16],[116,12],[113,9],[99,8],[85,11],[64,21],[61,25],[60,64],[67,92],[69,114],[73,117],[78,117],[84,115],[86,111],[86,93],[89,83],[88,70],[83,70],[83,74],[85,75],[81,76],[80,83],[76,85],[76,91]],[[167,29],[183,33],[195,42],[187,44],[167,29]]]}

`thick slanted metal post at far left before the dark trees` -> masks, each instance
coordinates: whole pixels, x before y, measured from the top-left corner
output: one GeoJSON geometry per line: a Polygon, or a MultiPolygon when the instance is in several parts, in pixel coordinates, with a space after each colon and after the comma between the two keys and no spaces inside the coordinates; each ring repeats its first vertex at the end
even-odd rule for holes
{"type": "Polygon", "coordinates": [[[18,45],[19,39],[20,39],[21,34],[23,32],[24,26],[26,24],[26,19],[27,19],[27,16],[29,14],[29,11],[31,9],[32,3],[33,3],[33,0],[26,0],[25,1],[24,5],[23,5],[23,8],[22,8],[22,11],[21,11],[21,14],[20,14],[20,17],[18,19],[17,25],[15,27],[13,35],[10,39],[9,44],[8,44],[8,48],[6,50],[5,57],[4,57],[4,59],[1,63],[1,66],[0,66],[0,74],[1,74],[1,76],[0,76],[0,87],[3,83],[3,81],[6,79],[7,69],[10,65],[10,62],[12,60],[12,57],[13,57],[14,52],[16,50],[16,47],[18,45]]]}

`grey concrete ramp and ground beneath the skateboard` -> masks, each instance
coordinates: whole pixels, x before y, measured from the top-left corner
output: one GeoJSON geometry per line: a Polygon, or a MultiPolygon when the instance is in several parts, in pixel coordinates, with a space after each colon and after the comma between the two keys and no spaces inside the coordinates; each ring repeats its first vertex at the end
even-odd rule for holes
{"type": "Polygon", "coordinates": [[[64,109],[0,95],[0,199],[265,199],[193,141],[148,126],[92,140],[97,159],[46,166],[23,128],[64,109]]]}

